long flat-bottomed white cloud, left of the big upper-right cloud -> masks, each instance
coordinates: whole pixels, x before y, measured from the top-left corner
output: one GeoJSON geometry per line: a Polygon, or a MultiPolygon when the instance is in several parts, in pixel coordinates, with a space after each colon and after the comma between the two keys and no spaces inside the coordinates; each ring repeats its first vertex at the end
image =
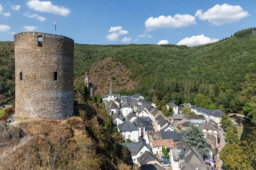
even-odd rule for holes
{"type": "Polygon", "coordinates": [[[145,21],[145,27],[148,31],[156,28],[180,28],[197,24],[195,17],[189,14],[176,14],[175,16],[163,16],[158,18],[150,17],[145,21]]]}

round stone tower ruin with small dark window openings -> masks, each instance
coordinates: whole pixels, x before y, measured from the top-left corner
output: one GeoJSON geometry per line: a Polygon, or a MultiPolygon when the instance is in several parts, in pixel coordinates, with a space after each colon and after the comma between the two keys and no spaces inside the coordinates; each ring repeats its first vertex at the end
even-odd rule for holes
{"type": "Polygon", "coordinates": [[[15,115],[65,119],[72,116],[74,40],[24,32],[15,41],[15,115]]]}

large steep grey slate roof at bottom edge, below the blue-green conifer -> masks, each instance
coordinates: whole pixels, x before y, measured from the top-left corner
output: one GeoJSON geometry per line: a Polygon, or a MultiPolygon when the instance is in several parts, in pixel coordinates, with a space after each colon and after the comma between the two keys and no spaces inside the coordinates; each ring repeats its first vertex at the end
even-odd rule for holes
{"type": "Polygon", "coordinates": [[[197,166],[199,170],[209,170],[209,165],[205,163],[195,147],[189,146],[185,141],[178,143],[172,151],[174,150],[176,150],[175,156],[177,158],[179,156],[180,158],[183,157],[183,159],[180,159],[180,163],[182,164],[181,170],[193,170],[195,166],[197,166]],[[176,149],[183,151],[180,153],[180,151],[176,149]]]}

